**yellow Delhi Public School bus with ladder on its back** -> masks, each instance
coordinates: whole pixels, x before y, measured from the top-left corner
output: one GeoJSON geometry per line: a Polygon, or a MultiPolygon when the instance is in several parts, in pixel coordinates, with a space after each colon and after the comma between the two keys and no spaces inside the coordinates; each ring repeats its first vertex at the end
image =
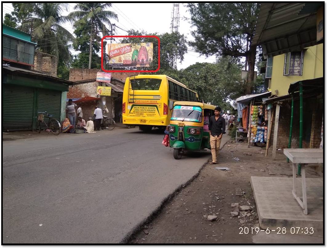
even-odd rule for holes
{"type": "Polygon", "coordinates": [[[136,75],[126,78],[122,120],[142,131],[170,124],[175,101],[198,102],[198,94],[167,75],[136,75]]]}

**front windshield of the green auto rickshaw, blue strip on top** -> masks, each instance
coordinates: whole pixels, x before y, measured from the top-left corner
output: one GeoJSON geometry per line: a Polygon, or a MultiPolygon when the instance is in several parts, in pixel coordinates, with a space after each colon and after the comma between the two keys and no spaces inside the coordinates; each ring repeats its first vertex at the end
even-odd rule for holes
{"type": "Polygon", "coordinates": [[[199,106],[175,105],[171,120],[202,122],[202,108],[199,106]]]}

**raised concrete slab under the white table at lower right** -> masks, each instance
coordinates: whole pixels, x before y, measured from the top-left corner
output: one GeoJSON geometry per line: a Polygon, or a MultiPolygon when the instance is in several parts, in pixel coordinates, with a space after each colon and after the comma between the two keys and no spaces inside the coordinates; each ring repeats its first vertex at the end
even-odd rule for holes
{"type": "MultiPolygon", "coordinates": [[[[297,193],[301,193],[301,179],[297,178],[297,193]]],[[[323,179],[307,178],[308,215],[294,200],[293,179],[287,177],[251,177],[261,228],[313,227],[314,235],[323,236],[323,179]]],[[[301,230],[299,233],[305,233],[301,230]]]]}

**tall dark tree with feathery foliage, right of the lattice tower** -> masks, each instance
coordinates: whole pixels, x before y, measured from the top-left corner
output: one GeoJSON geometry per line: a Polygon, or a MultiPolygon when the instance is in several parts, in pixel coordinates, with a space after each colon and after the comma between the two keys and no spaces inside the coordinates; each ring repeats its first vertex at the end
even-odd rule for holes
{"type": "Polygon", "coordinates": [[[248,65],[244,93],[251,93],[254,79],[256,46],[255,35],[258,3],[189,3],[192,31],[190,42],[205,55],[245,57],[248,65]]]}

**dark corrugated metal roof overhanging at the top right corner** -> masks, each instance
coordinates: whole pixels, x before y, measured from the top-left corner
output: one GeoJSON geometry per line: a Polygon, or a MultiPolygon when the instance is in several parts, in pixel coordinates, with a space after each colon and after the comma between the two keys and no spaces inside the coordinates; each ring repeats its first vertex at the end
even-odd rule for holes
{"type": "Polygon", "coordinates": [[[317,16],[299,14],[304,5],[261,3],[253,43],[262,46],[265,58],[316,44],[317,16]]]}

